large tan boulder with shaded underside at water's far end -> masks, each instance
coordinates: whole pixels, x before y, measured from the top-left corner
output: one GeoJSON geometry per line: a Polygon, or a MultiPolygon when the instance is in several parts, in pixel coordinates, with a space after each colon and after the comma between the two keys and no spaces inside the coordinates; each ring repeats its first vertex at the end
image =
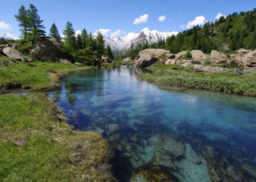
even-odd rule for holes
{"type": "Polygon", "coordinates": [[[132,67],[148,67],[157,62],[159,56],[167,54],[170,54],[170,51],[164,49],[145,49],[140,51],[136,56],[135,61],[132,63],[132,67]]]}

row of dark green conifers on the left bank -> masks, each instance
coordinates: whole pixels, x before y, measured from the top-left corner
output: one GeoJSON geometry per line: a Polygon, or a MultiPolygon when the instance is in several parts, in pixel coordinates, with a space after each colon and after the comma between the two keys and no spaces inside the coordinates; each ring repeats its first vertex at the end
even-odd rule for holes
{"type": "MultiPolygon", "coordinates": [[[[36,41],[40,41],[46,37],[45,27],[43,20],[41,20],[36,7],[33,4],[29,5],[29,9],[21,5],[19,12],[15,15],[16,20],[19,22],[21,40],[24,42],[32,42],[32,45],[36,41]]],[[[87,33],[84,28],[80,34],[77,34],[70,21],[66,23],[66,27],[63,30],[63,38],[61,38],[58,28],[55,23],[50,28],[49,37],[56,38],[62,44],[62,51],[67,55],[71,55],[80,49],[87,49],[94,51],[100,55],[109,56],[114,58],[112,50],[109,45],[105,48],[105,41],[103,35],[98,30],[96,36],[92,35],[92,32],[87,33]]]]}

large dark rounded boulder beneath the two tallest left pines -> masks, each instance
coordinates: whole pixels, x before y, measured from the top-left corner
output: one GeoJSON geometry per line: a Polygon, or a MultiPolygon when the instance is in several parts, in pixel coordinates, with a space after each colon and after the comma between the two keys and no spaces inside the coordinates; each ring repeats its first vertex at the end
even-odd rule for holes
{"type": "Polygon", "coordinates": [[[32,53],[43,61],[56,62],[56,57],[61,54],[61,44],[55,38],[45,38],[35,43],[32,53]]]}

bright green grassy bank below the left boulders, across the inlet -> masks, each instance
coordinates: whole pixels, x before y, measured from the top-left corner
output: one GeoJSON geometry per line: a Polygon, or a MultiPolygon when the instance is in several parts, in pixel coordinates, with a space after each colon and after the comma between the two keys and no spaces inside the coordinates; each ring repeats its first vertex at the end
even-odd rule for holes
{"type": "MultiPolygon", "coordinates": [[[[0,59],[6,62],[8,58],[0,56],[0,59]]],[[[39,61],[32,63],[16,61],[16,63],[8,64],[8,67],[0,67],[0,88],[11,89],[12,85],[15,86],[14,83],[18,88],[50,88],[59,84],[61,75],[88,68],[90,67],[39,61]]]]}

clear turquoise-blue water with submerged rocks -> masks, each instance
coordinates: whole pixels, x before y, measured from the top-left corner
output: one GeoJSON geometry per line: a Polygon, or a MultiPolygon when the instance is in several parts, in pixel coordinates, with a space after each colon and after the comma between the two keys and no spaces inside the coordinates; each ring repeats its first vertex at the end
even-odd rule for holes
{"type": "Polygon", "coordinates": [[[112,142],[121,181],[140,166],[183,182],[256,180],[256,98],[162,89],[131,68],[74,72],[49,95],[76,129],[112,142]]]}

